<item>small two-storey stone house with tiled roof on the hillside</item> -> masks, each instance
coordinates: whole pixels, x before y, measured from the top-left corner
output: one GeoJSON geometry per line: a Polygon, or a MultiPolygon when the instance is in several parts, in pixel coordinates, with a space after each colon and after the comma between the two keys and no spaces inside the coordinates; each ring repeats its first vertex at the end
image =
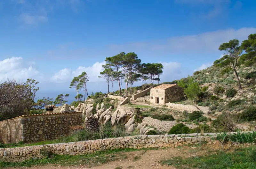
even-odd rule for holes
{"type": "Polygon", "coordinates": [[[165,105],[183,97],[184,90],[178,85],[159,85],[150,89],[150,103],[154,105],[165,105]]]}

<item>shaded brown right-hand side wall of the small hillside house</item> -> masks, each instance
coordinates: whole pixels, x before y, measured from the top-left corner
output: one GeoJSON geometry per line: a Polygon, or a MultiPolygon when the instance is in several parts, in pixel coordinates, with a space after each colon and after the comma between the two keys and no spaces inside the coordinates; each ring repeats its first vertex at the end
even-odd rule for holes
{"type": "Polygon", "coordinates": [[[179,101],[184,97],[184,90],[178,86],[172,86],[168,89],[165,89],[165,103],[179,101]]]}

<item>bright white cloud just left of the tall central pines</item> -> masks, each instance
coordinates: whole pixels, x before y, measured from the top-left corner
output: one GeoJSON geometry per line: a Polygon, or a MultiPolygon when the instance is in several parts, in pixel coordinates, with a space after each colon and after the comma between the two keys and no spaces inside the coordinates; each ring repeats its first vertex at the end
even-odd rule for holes
{"type": "Polygon", "coordinates": [[[79,76],[82,72],[85,71],[89,76],[89,82],[101,82],[104,80],[100,79],[98,76],[102,71],[101,66],[103,64],[105,64],[105,62],[96,62],[89,67],[79,66],[76,70],[73,70],[73,71],[71,69],[65,68],[55,73],[52,76],[52,81],[56,83],[70,82],[73,79],[73,77],[79,76]]]}

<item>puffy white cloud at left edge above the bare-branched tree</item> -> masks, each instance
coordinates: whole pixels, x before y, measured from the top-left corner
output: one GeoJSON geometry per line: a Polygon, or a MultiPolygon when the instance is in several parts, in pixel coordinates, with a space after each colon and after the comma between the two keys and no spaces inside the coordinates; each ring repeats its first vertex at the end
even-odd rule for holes
{"type": "Polygon", "coordinates": [[[0,61],[0,80],[15,78],[24,81],[33,77],[40,79],[42,75],[31,64],[23,62],[22,57],[11,57],[0,61]]]}

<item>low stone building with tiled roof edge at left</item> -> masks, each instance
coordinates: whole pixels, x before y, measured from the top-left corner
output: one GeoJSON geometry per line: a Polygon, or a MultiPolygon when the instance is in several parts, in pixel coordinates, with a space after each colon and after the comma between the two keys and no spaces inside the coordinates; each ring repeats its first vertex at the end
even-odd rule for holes
{"type": "Polygon", "coordinates": [[[30,143],[51,140],[84,129],[82,125],[82,112],[22,115],[0,121],[0,142],[30,143]]]}

